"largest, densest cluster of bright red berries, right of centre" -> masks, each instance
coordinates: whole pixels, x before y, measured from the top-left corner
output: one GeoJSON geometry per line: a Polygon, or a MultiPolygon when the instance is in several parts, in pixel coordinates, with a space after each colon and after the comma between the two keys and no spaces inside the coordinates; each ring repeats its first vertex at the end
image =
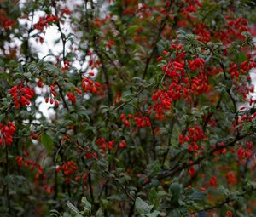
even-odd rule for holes
{"type": "MultiPolygon", "coordinates": [[[[202,58],[195,58],[195,60],[188,60],[189,69],[195,76],[188,76],[185,71],[186,61],[185,52],[181,44],[172,44],[170,52],[175,54],[174,57],[168,60],[167,64],[162,66],[166,85],[164,89],[154,90],[152,100],[154,101],[154,111],[156,111],[155,118],[163,115],[164,111],[170,110],[172,101],[180,99],[190,100],[192,94],[198,95],[207,92],[208,83],[207,76],[203,70],[205,61],[202,58]],[[170,80],[170,81],[169,81],[170,80]]],[[[164,51],[164,55],[169,56],[170,52],[164,51]]],[[[160,56],[158,61],[163,60],[160,56]]]]}

